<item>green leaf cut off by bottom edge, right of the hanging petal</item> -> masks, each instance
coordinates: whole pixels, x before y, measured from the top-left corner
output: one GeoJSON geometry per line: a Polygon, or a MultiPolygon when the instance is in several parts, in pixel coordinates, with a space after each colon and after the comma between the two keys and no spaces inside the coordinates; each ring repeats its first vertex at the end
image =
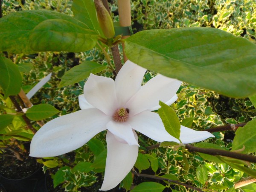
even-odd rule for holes
{"type": "Polygon", "coordinates": [[[162,192],[166,187],[160,183],[143,182],[135,186],[131,192],[162,192]]]}

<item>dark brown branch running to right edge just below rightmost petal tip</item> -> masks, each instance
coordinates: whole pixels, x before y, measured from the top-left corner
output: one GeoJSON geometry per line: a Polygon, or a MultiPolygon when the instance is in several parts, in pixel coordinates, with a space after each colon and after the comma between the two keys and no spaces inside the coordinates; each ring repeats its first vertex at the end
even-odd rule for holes
{"type": "Polygon", "coordinates": [[[213,148],[200,148],[200,147],[195,147],[189,144],[184,144],[184,145],[185,145],[185,148],[188,149],[190,152],[195,151],[195,152],[210,154],[210,155],[221,155],[225,157],[231,157],[235,159],[256,163],[256,157],[252,155],[241,154],[241,153],[225,151],[220,149],[213,149],[213,148]]]}

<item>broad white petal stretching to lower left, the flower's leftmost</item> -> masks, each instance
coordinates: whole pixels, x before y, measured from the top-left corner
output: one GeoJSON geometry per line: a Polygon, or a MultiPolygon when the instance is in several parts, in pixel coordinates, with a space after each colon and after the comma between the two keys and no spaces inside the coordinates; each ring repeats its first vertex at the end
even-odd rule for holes
{"type": "Polygon", "coordinates": [[[106,129],[111,117],[96,108],[60,116],[47,122],[32,138],[30,156],[54,157],[75,150],[106,129]]]}

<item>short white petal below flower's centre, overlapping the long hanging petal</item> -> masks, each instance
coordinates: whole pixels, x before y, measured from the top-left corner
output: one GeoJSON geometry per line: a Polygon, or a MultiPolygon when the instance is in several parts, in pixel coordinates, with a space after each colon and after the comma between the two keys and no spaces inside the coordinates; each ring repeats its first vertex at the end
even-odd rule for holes
{"type": "MultiPolygon", "coordinates": [[[[114,122],[110,121],[106,125],[108,131],[110,131],[115,136],[125,140],[129,145],[139,145],[134,137],[131,125],[126,122],[114,122]]],[[[123,142],[121,142],[123,143],[123,142]]]]}

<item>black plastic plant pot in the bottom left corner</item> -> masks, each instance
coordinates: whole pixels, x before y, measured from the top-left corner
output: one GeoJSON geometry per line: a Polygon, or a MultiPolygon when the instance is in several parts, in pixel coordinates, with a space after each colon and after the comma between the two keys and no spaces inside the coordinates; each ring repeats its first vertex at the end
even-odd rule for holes
{"type": "Polygon", "coordinates": [[[6,192],[48,192],[42,168],[22,179],[8,179],[0,175],[0,185],[6,192]]]}

